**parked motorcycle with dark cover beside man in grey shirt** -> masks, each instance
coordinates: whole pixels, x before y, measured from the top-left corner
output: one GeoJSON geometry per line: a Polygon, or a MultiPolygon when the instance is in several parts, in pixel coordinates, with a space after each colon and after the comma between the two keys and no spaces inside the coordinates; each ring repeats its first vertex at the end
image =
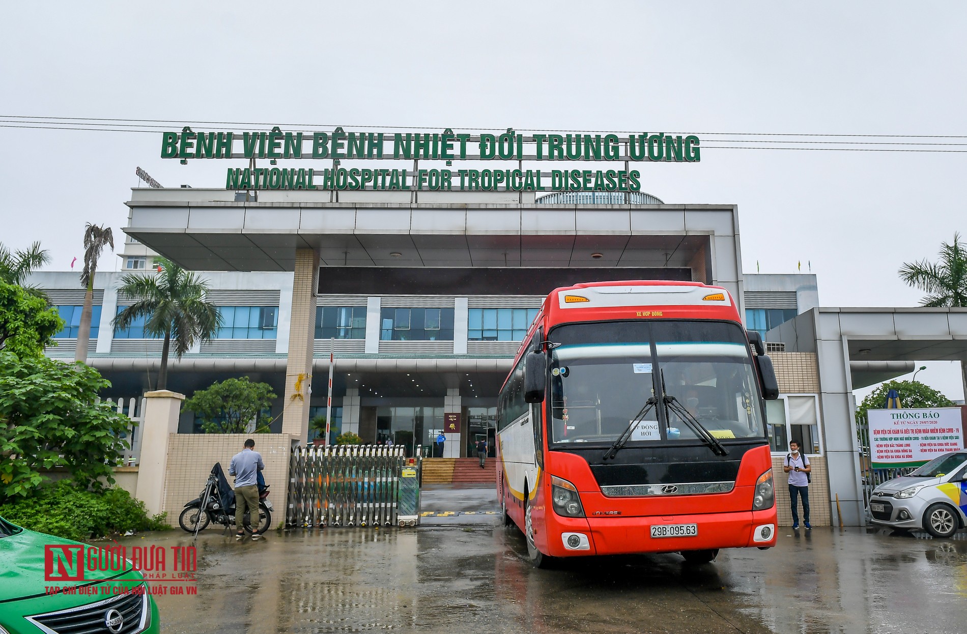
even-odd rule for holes
{"type": "MultiPolygon", "coordinates": [[[[272,501],[268,498],[269,487],[263,488],[260,486],[258,522],[254,526],[252,525],[253,513],[249,511],[243,523],[246,533],[262,534],[272,526],[274,507],[272,501]]],[[[212,522],[224,526],[226,530],[232,528],[235,524],[235,491],[228,484],[219,462],[212,467],[212,472],[205,482],[205,488],[202,489],[197,498],[185,504],[181,515],[178,516],[178,525],[182,530],[186,533],[194,533],[195,536],[199,531],[205,530],[212,522]]]]}

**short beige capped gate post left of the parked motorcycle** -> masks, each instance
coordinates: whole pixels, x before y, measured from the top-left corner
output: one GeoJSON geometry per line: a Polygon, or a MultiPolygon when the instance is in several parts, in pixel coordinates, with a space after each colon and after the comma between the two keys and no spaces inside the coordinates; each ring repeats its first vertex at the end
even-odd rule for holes
{"type": "Polygon", "coordinates": [[[168,440],[178,433],[178,414],[185,394],[160,389],[144,394],[141,431],[141,461],[134,497],[144,503],[148,515],[161,513],[164,505],[164,477],[168,471],[168,440]]]}

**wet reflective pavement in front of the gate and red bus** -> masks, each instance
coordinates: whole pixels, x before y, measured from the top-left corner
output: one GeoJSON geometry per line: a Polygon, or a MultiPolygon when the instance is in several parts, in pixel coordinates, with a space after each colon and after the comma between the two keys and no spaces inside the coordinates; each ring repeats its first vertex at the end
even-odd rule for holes
{"type": "MultiPolygon", "coordinates": [[[[425,506],[426,508],[426,506],[425,506]]],[[[489,521],[489,518],[487,519],[489,521]]],[[[967,535],[782,530],[770,551],[571,560],[538,570],[515,528],[198,538],[197,595],[157,597],[165,632],[962,632],[967,535]]],[[[129,537],[189,545],[186,533],[129,537]]]]}

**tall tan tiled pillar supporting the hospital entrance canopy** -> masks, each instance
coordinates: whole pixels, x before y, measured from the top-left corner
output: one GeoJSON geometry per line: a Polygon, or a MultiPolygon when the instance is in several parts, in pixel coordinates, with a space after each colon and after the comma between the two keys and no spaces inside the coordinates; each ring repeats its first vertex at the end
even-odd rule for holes
{"type": "MultiPolygon", "coordinates": [[[[315,340],[315,298],[319,290],[319,254],[296,249],[289,317],[289,358],[285,365],[285,408],[282,433],[303,442],[308,438],[308,407],[312,384],[312,344],[315,340]]],[[[319,385],[326,385],[322,381],[319,385]]]]}

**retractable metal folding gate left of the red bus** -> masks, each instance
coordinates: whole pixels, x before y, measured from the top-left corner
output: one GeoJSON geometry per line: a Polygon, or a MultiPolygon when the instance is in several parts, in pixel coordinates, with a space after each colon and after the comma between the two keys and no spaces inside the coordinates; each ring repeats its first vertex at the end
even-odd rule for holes
{"type": "MultiPolygon", "coordinates": [[[[409,522],[411,512],[400,518],[400,476],[406,466],[403,449],[401,445],[294,447],[286,525],[414,526],[416,522],[409,522]]],[[[409,503],[405,505],[410,506],[410,496],[405,497],[404,502],[409,503]]]]}

